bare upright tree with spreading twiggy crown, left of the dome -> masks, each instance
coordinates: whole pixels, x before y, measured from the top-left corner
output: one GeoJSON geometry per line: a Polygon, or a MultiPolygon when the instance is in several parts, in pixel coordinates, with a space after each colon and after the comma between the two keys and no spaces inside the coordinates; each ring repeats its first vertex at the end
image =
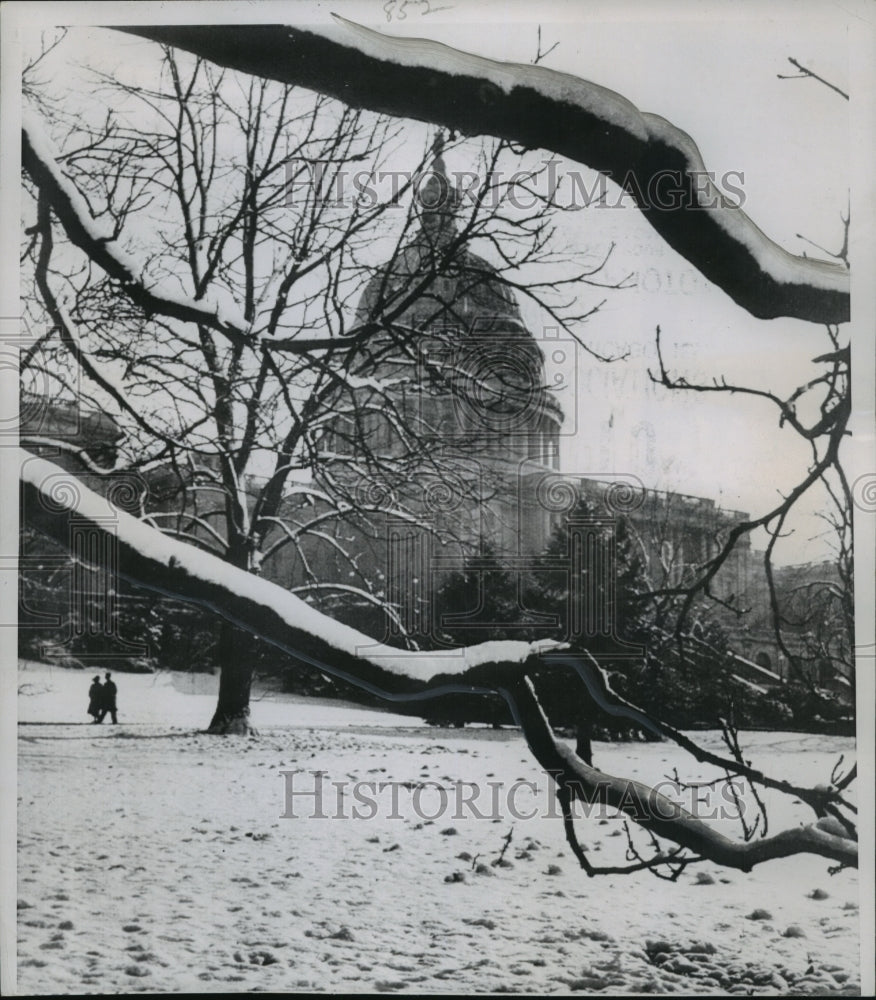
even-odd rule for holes
{"type": "MultiPolygon", "coordinates": [[[[414,469],[445,475],[446,456],[404,389],[459,373],[424,366],[419,330],[440,337],[464,321],[461,292],[498,288],[579,336],[598,305],[568,289],[599,284],[602,262],[572,266],[553,248],[550,198],[516,207],[534,175],[507,169],[505,141],[448,205],[452,192],[414,197],[424,173],[443,180],[435,150],[387,197],[362,186],[397,154],[398,123],[168,47],[154,88],[97,76],[83,107],[40,102],[61,148],[26,116],[26,319],[41,332],[25,384],[48,379],[63,398],[83,380],[96,393],[127,437],[112,468],[89,468],[142,473],[148,523],[312,599],[393,613],[334,529],[367,531],[385,512],[363,489],[375,482],[397,491],[394,516],[430,527],[401,487],[414,469]],[[314,545],[342,561],[343,583],[320,574],[314,545]]],[[[219,648],[211,729],[245,730],[252,658],[228,625],[219,648]]]]}

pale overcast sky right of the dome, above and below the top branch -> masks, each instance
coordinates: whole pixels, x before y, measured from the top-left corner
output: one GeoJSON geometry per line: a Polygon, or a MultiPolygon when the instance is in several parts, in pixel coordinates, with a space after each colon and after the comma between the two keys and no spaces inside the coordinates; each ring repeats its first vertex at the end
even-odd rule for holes
{"type": "MultiPolygon", "coordinates": [[[[48,6],[41,13],[51,23],[48,6]]],[[[686,131],[709,170],[718,177],[734,172],[746,212],[769,237],[792,252],[813,255],[819,252],[798,233],[831,248],[841,241],[840,214],[850,183],[848,104],[814,80],[777,78],[795,72],[787,61],[794,57],[848,91],[848,26],[840,8],[350,0],[228,3],[216,10],[201,4],[194,17],[182,4],[121,5],[113,7],[113,18],[234,20],[254,11],[263,21],[307,24],[325,21],[334,10],[389,33],[424,35],[517,62],[535,56],[540,24],[542,49],[557,43],[544,65],[616,90],[686,131]]],[[[88,5],[81,14],[90,14],[92,22],[107,16],[89,12],[88,5]]],[[[68,7],[63,15],[70,18],[68,7]]],[[[74,33],[70,40],[78,57],[102,62],[102,68],[123,60],[130,72],[142,60],[148,75],[154,65],[147,43],[110,31],[81,33],[79,41],[74,33]]],[[[77,85],[72,77],[71,86],[77,85]]],[[[418,148],[425,134],[422,126],[412,126],[418,148]]],[[[450,156],[448,166],[467,164],[450,156]]],[[[571,169],[577,168],[562,162],[561,171],[571,169]]],[[[655,363],[655,327],[662,328],[673,371],[706,381],[726,376],[780,396],[819,370],[811,359],[829,349],[823,329],[751,318],[667,247],[629,204],[590,207],[566,215],[563,226],[582,254],[614,242],[613,273],[631,273],[635,286],[610,293],[584,331],[597,350],[628,351],[628,359],[606,366],[579,350],[574,370],[564,369],[570,386],[561,396],[570,432],[561,450],[564,470],[632,473],[647,486],[713,497],[725,507],[752,514],[768,509],[777,491],[802,478],[807,449],[793,431],[778,429],[766,403],[667,393],[651,385],[647,368],[655,363]]],[[[601,297],[591,289],[582,294],[587,301],[601,297]]],[[[544,318],[532,309],[525,315],[538,334],[544,318]]],[[[777,561],[824,557],[824,543],[809,541],[820,530],[813,517],[799,521],[777,561]]]]}

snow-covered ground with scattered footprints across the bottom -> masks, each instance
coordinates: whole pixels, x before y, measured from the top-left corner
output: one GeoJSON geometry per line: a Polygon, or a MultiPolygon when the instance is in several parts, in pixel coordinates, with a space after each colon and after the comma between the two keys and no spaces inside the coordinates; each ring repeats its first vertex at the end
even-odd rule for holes
{"type": "MultiPolygon", "coordinates": [[[[692,866],[676,883],[588,879],[542,815],[548,782],[515,733],[262,696],[258,739],[209,737],[196,730],[215,680],[170,674],[116,675],[120,724],[90,726],[94,672],[19,673],[23,993],[859,992],[854,872],[800,857],[749,875],[692,866]],[[313,815],[318,781],[326,818],[313,815]],[[373,818],[352,817],[357,803],[372,811],[355,782],[389,783],[366,786],[373,818]],[[483,818],[459,782],[490,789],[483,818]]],[[[854,750],[796,734],[746,746],[811,783],[854,750]]],[[[651,781],[675,766],[714,776],[668,744],[595,754],[651,781]]],[[[771,830],[809,819],[768,805],[771,830]]],[[[578,829],[594,863],[623,862],[618,819],[578,829]]]]}

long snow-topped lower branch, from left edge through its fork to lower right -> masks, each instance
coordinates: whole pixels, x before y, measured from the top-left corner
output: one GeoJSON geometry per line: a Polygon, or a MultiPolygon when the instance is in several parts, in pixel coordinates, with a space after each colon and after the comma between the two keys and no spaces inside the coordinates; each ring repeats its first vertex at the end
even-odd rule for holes
{"type": "Polygon", "coordinates": [[[59,467],[20,453],[23,520],[62,545],[71,527],[115,540],[119,575],[157,593],[182,598],[222,615],[299,660],[392,700],[439,694],[501,694],[508,701],[539,764],[554,778],[563,805],[566,836],[588,874],[601,874],[577,841],[570,805],[574,797],[604,802],[653,837],[678,845],[629,870],[678,866],[708,859],[749,871],[774,858],[813,853],[857,864],[857,844],[847,827],[827,816],[814,825],[760,840],[734,841],[641,782],[615,777],[585,763],[557,740],[535,696],[529,674],[558,643],[487,642],[445,653],[407,652],[375,643],[316,611],[277,584],[237,569],[216,556],[170,538],[118,510],[59,467]],[[683,854],[682,851],[693,852],[683,854]]]}

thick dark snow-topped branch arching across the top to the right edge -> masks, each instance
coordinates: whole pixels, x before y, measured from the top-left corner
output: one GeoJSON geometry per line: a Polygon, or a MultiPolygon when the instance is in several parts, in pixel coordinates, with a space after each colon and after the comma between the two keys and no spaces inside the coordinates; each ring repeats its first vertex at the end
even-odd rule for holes
{"type": "Polygon", "coordinates": [[[501,62],[422,38],[335,27],[125,26],[222,66],[297,84],[354,107],[552,150],[607,174],[678,253],[752,315],[849,318],[849,272],[770,240],[708,179],[693,140],[619,94],[544,66],[501,62]],[[663,198],[661,176],[678,192],[663,198]]]}

